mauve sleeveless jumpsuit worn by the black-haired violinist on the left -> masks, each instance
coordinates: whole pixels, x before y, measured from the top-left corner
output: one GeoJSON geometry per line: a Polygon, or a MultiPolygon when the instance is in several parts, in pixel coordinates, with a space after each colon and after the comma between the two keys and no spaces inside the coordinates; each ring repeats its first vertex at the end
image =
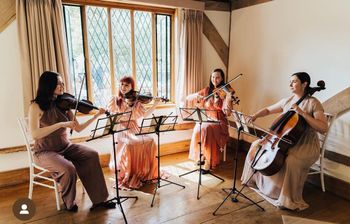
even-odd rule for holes
{"type": "MultiPolygon", "coordinates": [[[[64,121],[69,121],[68,114],[52,105],[44,111],[40,127],[64,121]]],[[[36,140],[34,151],[35,162],[51,171],[58,181],[62,199],[68,209],[75,204],[77,174],[94,204],[107,199],[108,190],[98,153],[86,146],[72,144],[66,128],[60,128],[36,140]]]]}

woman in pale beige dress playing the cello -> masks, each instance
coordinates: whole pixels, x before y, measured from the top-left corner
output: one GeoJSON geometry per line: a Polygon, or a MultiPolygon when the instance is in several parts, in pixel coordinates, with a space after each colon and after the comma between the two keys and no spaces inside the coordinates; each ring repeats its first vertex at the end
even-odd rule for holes
{"type": "Polygon", "coordinates": [[[288,156],[280,171],[272,176],[264,176],[251,168],[252,161],[259,145],[263,140],[253,142],[244,165],[242,183],[257,189],[268,202],[279,208],[303,210],[308,204],[303,200],[302,193],[309,168],[319,158],[320,145],[316,132],[327,130],[327,121],[322,104],[311,96],[299,104],[296,102],[310,88],[310,76],[306,72],[298,72],[290,78],[292,96],[280,100],[278,103],[263,108],[250,116],[251,121],[274,113],[294,110],[302,116],[307,127],[297,143],[289,148],[288,156]],[[253,177],[249,180],[250,176],[253,177]],[[249,182],[248,182],[249,180],[249,182]]]}

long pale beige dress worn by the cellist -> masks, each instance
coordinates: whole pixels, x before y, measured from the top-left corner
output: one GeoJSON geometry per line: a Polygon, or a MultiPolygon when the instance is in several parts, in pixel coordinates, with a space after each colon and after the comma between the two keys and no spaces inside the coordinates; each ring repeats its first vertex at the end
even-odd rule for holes
{"type": "MultiPolygon", "coordinates": [[[[279,101],[279,105],[283,112],[286,112],[295,101],[293,97],[289,97],[279,101]]],[[[321,103],[314,97],[307,97],[299,107],[311,116],[317,111],[323,112],[321,103]]],[[[260,139],[254,141],[250,150],[254,150],[259,141],[260,139]]],[[[317,133],[307,125],[303,136],[295,146],[289,149],[285,164],[278,173],[264,176],[257,172],[249,180],[254,170],[251,168],[251,161],[247,156],[241,177],[242,183],[256,190],[268,202],[277,207],[304,210],[309,207],[302,195],[304,183],[311,165],[317,161],[319,154],[320,145],[317,133]],[[247,182],[248,180],[249,182],[247,182]]]]}

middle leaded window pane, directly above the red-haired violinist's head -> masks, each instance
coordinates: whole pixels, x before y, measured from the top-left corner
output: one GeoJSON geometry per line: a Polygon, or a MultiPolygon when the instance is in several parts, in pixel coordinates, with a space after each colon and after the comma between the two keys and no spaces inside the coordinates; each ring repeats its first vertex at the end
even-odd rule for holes
{"type": "Polygon", "coordinates": [[[111,12],[114,77],[119,83],[122,76],[132,76],[130,10],[112,9],[111,12]]]}

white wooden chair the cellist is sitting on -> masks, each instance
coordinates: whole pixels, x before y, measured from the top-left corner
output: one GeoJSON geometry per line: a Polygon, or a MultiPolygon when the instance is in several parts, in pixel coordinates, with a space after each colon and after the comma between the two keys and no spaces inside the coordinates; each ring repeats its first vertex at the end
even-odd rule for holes
{"type": "Polygon", "coordinates": [[[327,147],[329,130],[331,130],[331,126],[333,124],[333,121],[336,118],[336,116],[329,114],[329,113],[325,113],[325,115],[326,115],[327,122],[328,122],[328,130],[323,134],[318,133],[318,137],[320,140],[320,158],[318,159],[318,161],[315,164],[313,164],[311,166],[311,169],[309,172],[309,175],[320,174],[321,187],[322,187],[323,192],[326,191],[326,187],[324,184],[324,153],[325,153],[326,147],[327,147]]]}

